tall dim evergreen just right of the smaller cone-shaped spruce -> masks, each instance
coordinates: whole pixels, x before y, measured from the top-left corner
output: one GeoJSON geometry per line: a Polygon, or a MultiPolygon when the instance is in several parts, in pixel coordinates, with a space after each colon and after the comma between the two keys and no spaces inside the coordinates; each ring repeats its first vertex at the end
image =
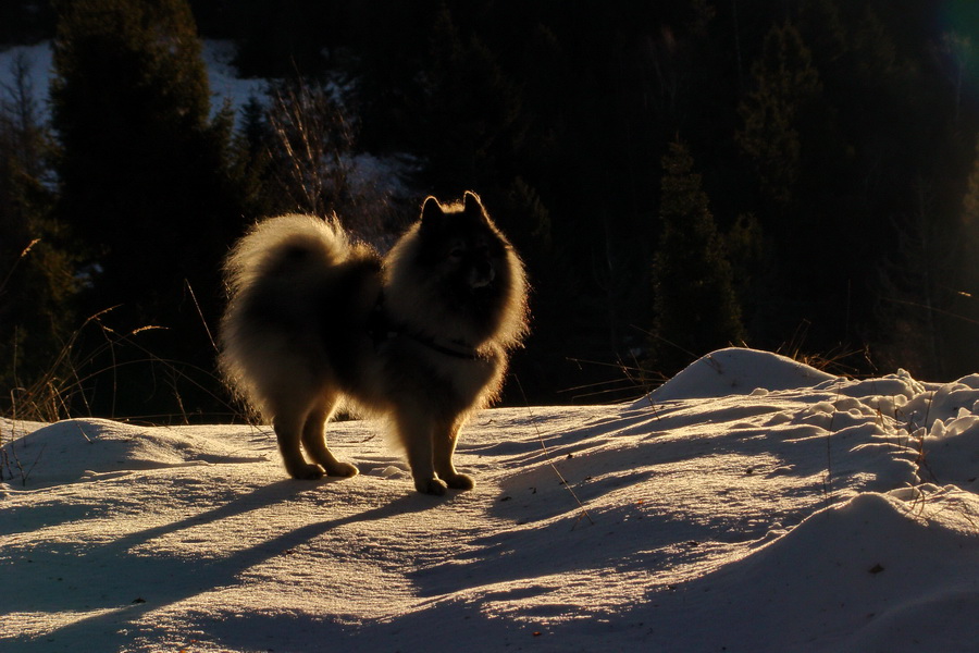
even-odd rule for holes
{"type": "MultiPolygon", "coordinates": [[[[835,33],[823,32],[822,47],[838,47],[835,33]]],[[[781,346],[801,324],[814,324],[806,330],[810,341],[805,345],[829,350],[850,335],[847,316],[832,308],[851,298],[853,256],[847,248],[827,251],[814,244],[830,235],[846,239],[857,223],[858,211],[848,201],[848,150],[823,96],[813,51],[793,23],[768,29],[751,82],[738,107],[742,126],[735,143],[754,175],[752,212],[770,238],[772,255],[770,267],[748,291],[759,298],[751,307],[752,334],[767,346],[781,346]],[[813,274],[822,267],[829,270],[813,274]]]]}

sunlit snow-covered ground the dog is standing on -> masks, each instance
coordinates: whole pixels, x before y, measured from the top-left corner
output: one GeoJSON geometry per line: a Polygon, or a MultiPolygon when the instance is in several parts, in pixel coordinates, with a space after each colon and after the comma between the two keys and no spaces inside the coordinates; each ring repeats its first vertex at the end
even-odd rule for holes
{"type": "Polygon", "coordinates": [[[724,349],[479,414],[441,498],[375,427],[299,482],[265,427],[0,421],[0,650],[976,650],[979,377],[724,349]]]}

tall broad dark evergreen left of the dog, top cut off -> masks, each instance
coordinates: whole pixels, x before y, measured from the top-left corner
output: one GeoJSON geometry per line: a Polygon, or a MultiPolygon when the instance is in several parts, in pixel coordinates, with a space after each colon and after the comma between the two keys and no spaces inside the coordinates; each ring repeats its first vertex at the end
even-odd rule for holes
{"type": "MultiPolygon", "coordinates": [[[[148,343],[156,356],[211,369],[201,313],[216,319],[219,269],[241,231],[243,192],[233,182],[230,112],[210,115],[190,10],[186,0],[71,0],[58,10],[57,212],[87,246],[83,310],[119,306],[111,319],[123,333],[165,326],[169,335],[148,336],[159,338],[148,343]]],[[[152,394],[156,380],[146,383],[152,394]]]]}

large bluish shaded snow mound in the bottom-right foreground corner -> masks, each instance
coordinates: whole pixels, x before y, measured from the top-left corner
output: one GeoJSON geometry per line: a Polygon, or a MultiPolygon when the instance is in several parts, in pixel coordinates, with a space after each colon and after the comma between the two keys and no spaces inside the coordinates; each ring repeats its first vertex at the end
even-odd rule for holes
{"type": "Polygon", "coordinates": [[[689,650],[965,651],[963,633],[979,614],[979,547],[968,526],[979,497],[939,488],[903,494],[909,501],[867,493],[817,512],[659,609],[676,612],[678,629],[703,633],[689,650]],[[705,595],[751,606],[751,618],[718,615],[705,595]],[[942,626],[922,630],[929,624],[942,626]]]}

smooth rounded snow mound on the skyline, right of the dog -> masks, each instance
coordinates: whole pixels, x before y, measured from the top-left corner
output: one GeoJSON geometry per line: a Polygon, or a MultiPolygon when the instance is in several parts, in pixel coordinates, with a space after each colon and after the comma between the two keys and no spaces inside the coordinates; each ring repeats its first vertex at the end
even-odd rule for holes
{"type": "Polygon", "coordinates": [[[837,377],[771,352],[730,347],[692,362],[686,369],[635,403],[746,395],[755,391],[811,387],[837,377]]]}

